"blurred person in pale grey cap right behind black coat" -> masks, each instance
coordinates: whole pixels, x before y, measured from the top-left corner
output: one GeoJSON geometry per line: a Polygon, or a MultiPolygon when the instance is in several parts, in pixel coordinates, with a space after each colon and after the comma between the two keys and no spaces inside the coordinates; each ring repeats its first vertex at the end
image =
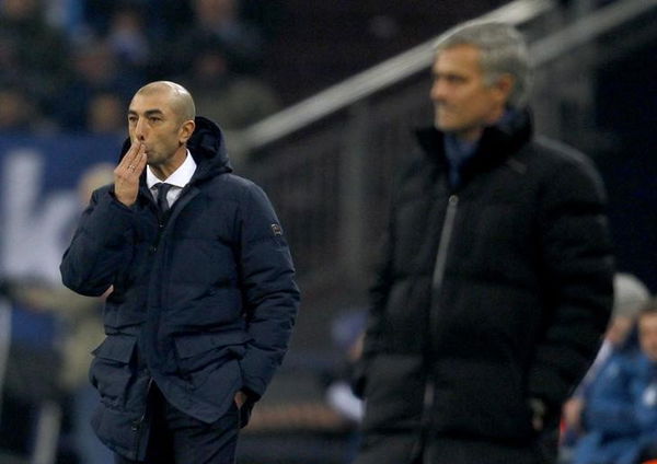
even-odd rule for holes
{"type": "Polygon", "coordinates": [[[598,376],[607,369],[614,369],[616,352],[636,348],[636,339],[626,343],[631,328],[635,325],[636,315],[649,299],[646,286],[630,274],[619,272],[614,276],[614,302],[612,318],[609,323],[602,347],[575,394],[564,405],[561,460],[567,461],[572,448],[583,433],[581,418],[586,402],[598,376]]]}

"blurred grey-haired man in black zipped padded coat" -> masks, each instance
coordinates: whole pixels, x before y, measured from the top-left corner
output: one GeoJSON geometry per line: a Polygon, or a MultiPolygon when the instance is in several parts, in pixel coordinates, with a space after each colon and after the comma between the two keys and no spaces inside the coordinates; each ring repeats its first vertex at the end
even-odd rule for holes
{"type": "Polygon", "coordinates": [[[521,35],[439,39],[434,125],[393,188],[356,391],[357,464],[554,462],[612,302],[600,178],[533,135],[521,35]]]}

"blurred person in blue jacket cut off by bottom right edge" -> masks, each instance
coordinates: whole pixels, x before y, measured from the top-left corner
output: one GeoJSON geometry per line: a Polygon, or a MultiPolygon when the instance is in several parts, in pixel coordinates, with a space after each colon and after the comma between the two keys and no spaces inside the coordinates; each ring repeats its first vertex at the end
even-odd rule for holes
{"type": "Polygon", "coordinates": [[[573,464],[657,459],[657,300],[639,312],[637,334],[641,349],[629,338],[631,346],[613,353],[591,385],[584,413],[587,433],[573,464]]]}

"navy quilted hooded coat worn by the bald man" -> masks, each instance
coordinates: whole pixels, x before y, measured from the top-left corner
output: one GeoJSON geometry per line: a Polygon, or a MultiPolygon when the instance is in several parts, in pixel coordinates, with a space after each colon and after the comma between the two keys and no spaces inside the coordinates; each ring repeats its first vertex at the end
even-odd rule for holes
{"type": "Polygon", "coordinates": [[[81,294],[112,289],[107,337],[90,371],[101,395],[92,424],[130,460],[146,451],[152,381],[206,422],[228,410],[238,390],[257,399],[287,350],[299,304],[276,213],[260,187],[231,173],[220,129],[198,117],[188,149],[197,169],[165,222],[146,175],[132,207],[103,187],[60,266],[64,283],[81,294]]]}

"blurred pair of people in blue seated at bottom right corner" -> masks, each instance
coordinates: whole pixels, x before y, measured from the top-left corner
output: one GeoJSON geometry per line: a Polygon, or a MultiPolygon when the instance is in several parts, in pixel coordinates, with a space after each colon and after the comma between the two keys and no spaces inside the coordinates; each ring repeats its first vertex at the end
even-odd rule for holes
{"type": "Polygon", "coordinates": [[[563,409],[561,464],[657,460],[657,299],[618,274],[604,340],[563,409]]]}

